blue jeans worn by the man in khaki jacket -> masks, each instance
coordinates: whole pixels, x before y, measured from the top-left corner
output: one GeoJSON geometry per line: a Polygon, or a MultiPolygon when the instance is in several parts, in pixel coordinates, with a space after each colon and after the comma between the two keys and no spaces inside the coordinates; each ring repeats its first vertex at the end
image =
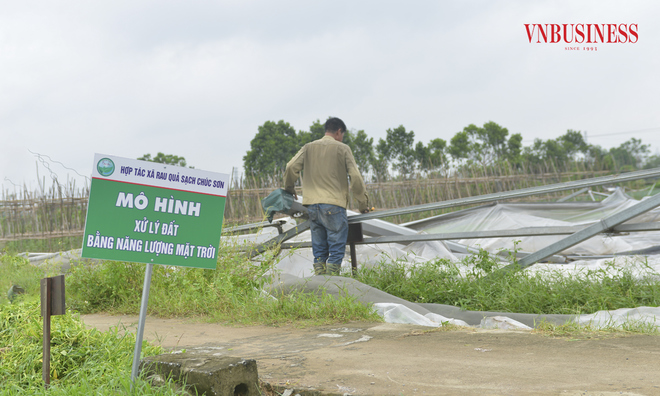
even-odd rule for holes
{"type": "Polygon", "coordinates": [[[314,263],[341,265],[348,237],[346,209],[336,205],[313,204],[307,206],[307,210],[314,263]]]}

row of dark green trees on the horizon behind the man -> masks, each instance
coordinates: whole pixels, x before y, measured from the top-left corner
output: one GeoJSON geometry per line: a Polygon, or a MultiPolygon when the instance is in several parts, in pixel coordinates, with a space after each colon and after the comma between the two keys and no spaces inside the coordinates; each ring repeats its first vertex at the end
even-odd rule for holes
{"type": "MultiPolygon", "coordinates": [[[[266,121],[243,157],[245,172],[266,178],[278,175],[304,144],[324,134],[319,120],[314,121],[308,131],[298,132],[288,122],[266,121]]],[[[510,135],[507,128],[492,121],[481,127],[470,124],[449,142],[436,138],[426,144],[415,143],[415,132],[407,131],[403,125],[388,129],[385,138],[380,138],[376,144],[364,130],[350,130],[344,136],[344,143],[353,151],[362,174],[379,181],[460,169],[466,164],[488,166],[506,161],[511,166],[521,167],[550,158],[555,163],[583,161],[598,170],[626,171],[660,166],[660,157],[649,156],[649,146],[636,138],[609,150],[588,144],[581,132],[573,130],[556,139],[536,139],[527,147],[522,140],[521,134],[510,135]]]]}

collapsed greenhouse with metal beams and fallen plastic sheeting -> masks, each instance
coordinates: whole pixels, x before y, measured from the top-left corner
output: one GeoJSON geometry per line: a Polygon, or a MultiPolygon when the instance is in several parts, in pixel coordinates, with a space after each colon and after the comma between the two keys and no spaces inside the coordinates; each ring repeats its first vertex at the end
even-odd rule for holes
{"type": "MultiPolygon", "coordinates": [[[[589,270],[607,273],[625,267],[639,276],[648,277],[649,271],[657,276],[660,274],[660,194],[652,195],[655,184],[641,200],[631,198],[620,188],[609,188],[609,194],[595,193],[591,188],[658,176],[660,169],[652,169],[367,214],[349,211],[349,223],[360,224],[358,232],[364,235],[351,243],[352,251],[347,253],[342,268],[350,273],[351,267],[368,268],[383,262],[414,265],[437,259],[459,261],[485,250],[501,257],[499,271],[511,269],[512,264],[504,256],[513,252],[517,266],[531,272],[579,276],[589,270]],[[572,193],[557,202],[502,202],[552,191],[572,193]],[[589,194],[592,201],[569,202],[580,194],[589,194]],[[596,201],[594,194],[606,197],[596,201]],[[400,225],[382,220],[405,213],[478,204],[481,206],[400,225]]],[[[255,261],[269,248],[283,249],[272,272],[271,291],[349,293],[359,301],[373,304],[387,322],[424,326],[452,323],[529,329],[543,321],[555,324],[575,321],[596,328],[631,321],[660,326],[658,307],[630,307],[583,315],[477,312],[450,305],[409,302],[350,277],[314,276],[311,234],[308,222],[303,221],[300,199],[288,212],[299,213],[291,217],[227,230],[235,233],[258,230],[231,237],[243,244],[255,261]]]]}

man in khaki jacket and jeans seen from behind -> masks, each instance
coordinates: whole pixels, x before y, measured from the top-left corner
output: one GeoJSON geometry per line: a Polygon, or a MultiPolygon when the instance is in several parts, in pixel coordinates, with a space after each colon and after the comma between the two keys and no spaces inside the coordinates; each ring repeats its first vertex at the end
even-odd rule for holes
{"type": "Polygon", "coordinates": [[[307,143],[286,164],[284,189],[296,199],[294,184],[303,171],[303,205],[309,211],[315,275],[339,275],[348,236],[348,185],[360,212],[369,211],[364,180],[350,147],[342,143],[346,124],[339,118],[325,123],[325,136],[307,143]]]}

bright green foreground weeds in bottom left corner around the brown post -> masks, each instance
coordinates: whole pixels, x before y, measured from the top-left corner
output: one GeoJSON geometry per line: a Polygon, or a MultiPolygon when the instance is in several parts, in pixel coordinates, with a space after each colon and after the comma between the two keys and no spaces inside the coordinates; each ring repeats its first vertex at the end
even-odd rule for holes
{"type": "MultiPolygon", "coordinates": [[[[117,395],[130,394],[135,337],[113,328],[88,329],[77,314],[53,316],[51,321],[51,386],[42,379],[43,319],[35,296],[0,305],[0,395],[117,395]]],[[[143,356],[163,352],[148,342],[143,356]]],[[[138,378],[136,395],[175,395],[167,385],[152,387],[138,378]]]]}

